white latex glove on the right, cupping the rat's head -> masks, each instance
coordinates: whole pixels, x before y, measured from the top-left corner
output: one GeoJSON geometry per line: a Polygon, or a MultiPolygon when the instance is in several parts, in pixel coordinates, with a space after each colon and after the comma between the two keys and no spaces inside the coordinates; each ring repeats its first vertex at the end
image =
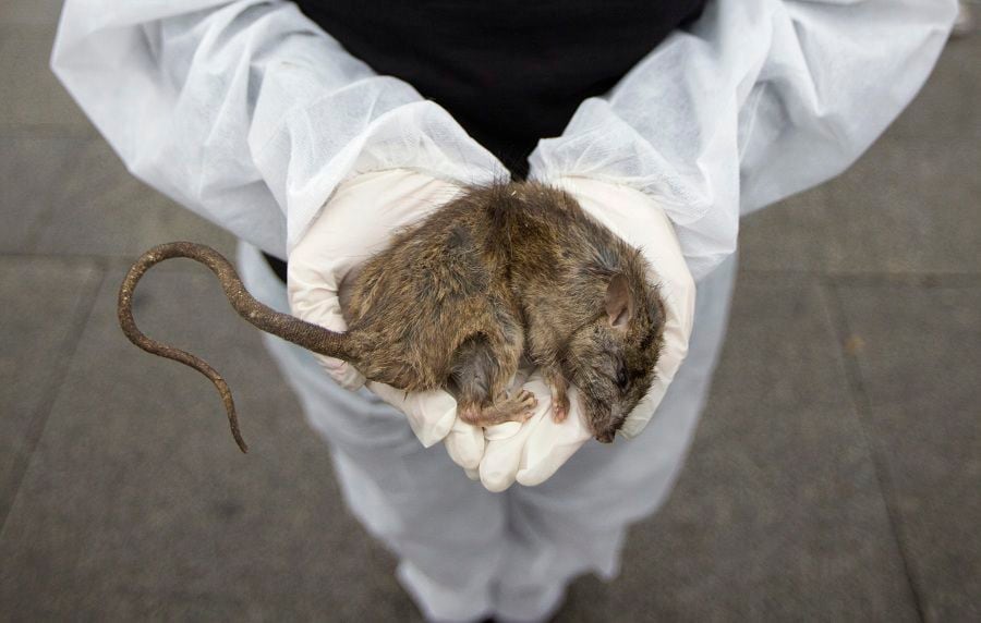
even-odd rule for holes
{"type": "MultiPolygon", "coordinates": [[[[646,396],[627,417],[620,433],[630,438],[647,425],[661,404],[675,372],[688,353],[694,314],[694,281],[681,255],[678,239],[664,210],[647,195],[586,178],[546,180],[568,191],[582,208],[613,233],[640,248],[651,264],[651,281],[661,285],[667,318],[664,350],[656,377],[646,396]]],[[[544,482],[592,438],[583,419],[578,390],[570,389],[569,416],[561,424],[552,417],[552,400],[541,376],[533,372],[524,384],[538,399],[538,408],[525,423],[507,423],[485,430],[487,448],[479,469],[468,469],[492,491],[502,491],[516,480],[544,482]]]]}

